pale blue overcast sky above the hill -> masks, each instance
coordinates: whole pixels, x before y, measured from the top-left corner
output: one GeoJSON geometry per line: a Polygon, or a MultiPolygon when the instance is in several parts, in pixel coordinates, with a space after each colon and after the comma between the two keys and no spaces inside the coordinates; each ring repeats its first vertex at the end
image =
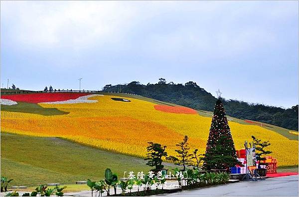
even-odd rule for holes
{"type": "Polygon", "coordinates": [[[298,1],[1,1],[1,87],[195,81],[298,104],[298,1]]]}

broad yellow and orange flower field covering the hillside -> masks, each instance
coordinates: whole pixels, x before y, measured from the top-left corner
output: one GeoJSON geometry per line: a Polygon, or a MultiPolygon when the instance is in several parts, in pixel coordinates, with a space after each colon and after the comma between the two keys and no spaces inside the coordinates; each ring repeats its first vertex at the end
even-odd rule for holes
{"type": "MultiPolygon", "coordinates": [[[[113,96],[116,97],[116,96],[113,96]]],[[[122,97],[125,98],[125,97],[122,97]]],[[[95,96],[96,103],[39,104],[57,108],[67,115],[1,112],[1,131],[34,135],[57,136],[67,140],[122,154],[145,157],[148,141],[167,146],[175,154],[175,144],[189,136],[191,148],[205,150],[211,118],[198,114],[174,114],[154,109],[154,103],[125,98],[132,102],[114,101],[111,96],[95,96]]],[[[279,166],[298,165],[298,141],[255,125],[229,122],[236,149],[243,148],[251,135],[270,140],[272,156],[279,166]]]]}

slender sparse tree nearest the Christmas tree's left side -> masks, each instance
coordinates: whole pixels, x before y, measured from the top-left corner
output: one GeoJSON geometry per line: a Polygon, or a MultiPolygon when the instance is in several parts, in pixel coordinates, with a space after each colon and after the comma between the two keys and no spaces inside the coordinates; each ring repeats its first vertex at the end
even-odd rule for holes
{"type": "Polygon", "coordinates": [[[175,144],[178,149],[175,150],[175,152],[177,152],[177,156],[171,156],[171,159],[173,161],[177,161],[176,165],[180,165],[183,166],[183,171],[186,170],[186,165],[189,162],[192,162],[191,160],[191,156],[192,154],[189,154],[189,144],[188,144],[188,136],[185,135],[183,141],[175,144]]]}

